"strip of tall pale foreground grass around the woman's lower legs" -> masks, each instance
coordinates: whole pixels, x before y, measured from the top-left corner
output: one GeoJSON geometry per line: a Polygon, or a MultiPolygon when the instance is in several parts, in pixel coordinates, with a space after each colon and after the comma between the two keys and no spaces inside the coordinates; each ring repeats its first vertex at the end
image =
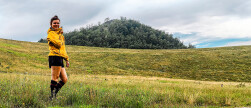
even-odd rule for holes
{"type": "Polygon", "coordinates": [[[50,76],[0,73],[0,77],[0,107],[251,106],[251,83],[72,74],[51,102],[50,76]]]}

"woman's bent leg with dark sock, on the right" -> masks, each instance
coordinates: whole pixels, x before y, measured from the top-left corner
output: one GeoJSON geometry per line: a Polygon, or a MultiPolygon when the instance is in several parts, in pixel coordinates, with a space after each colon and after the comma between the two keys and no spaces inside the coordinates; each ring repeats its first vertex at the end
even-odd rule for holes
{"type": "Polygon", "coordinates": [[[60,77],[61,81],[59,81],[59,83],[57,84],[56,91],[55,91],[56,94],[58,93],[58,91],[64,86],[64,84],[68,80],[65,68],[61,68],[59,77],[60,77]]]}

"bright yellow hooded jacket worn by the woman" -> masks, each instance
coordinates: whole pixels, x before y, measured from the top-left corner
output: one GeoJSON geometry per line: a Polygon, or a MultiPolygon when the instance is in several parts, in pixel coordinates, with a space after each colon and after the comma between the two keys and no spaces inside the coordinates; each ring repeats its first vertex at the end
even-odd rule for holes
{"type": "Polygon", "coordinates": [[[54,30],[49,28],[47,34],[47,40],[49,44],[49,56],[60,56],[63,57],[66,61],[69,61],[69,57],[65,50],[65,39],[61,33],[62,28],[54,30]]]}

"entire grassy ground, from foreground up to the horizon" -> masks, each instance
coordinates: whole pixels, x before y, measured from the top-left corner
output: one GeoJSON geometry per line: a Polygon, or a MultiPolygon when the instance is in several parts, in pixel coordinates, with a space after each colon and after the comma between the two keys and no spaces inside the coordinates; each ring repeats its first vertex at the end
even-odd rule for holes
{"type": "Polygon", "coordinates": [[[48,45],[0,39],[0,107],[250,107],[251,47],[67,45],[68,83],[48,100],[48,45]]]}

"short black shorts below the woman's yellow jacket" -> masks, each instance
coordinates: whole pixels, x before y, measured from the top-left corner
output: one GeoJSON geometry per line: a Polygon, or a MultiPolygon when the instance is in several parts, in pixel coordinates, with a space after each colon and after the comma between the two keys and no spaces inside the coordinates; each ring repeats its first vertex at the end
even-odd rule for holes
{"type": "Polygon", "coordinates": [[[49,56],[49,68],[51,66],[61,66],[64,67],[64,59],[59,56],[49,56]]]}

